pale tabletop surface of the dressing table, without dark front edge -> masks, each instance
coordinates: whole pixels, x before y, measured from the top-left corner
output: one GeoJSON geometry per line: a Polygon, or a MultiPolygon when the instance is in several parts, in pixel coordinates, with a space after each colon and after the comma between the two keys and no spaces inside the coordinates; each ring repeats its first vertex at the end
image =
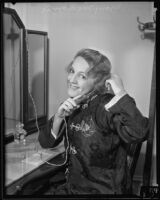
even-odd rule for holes
{"type": "Polygon", "coordinates": [[[16,142],[7,144],[5,146],[5,186],[63,152],[63,142],[56,148],[43,149],[37,140],[37,133],[27,136],[25,144],[16,142]]]}

